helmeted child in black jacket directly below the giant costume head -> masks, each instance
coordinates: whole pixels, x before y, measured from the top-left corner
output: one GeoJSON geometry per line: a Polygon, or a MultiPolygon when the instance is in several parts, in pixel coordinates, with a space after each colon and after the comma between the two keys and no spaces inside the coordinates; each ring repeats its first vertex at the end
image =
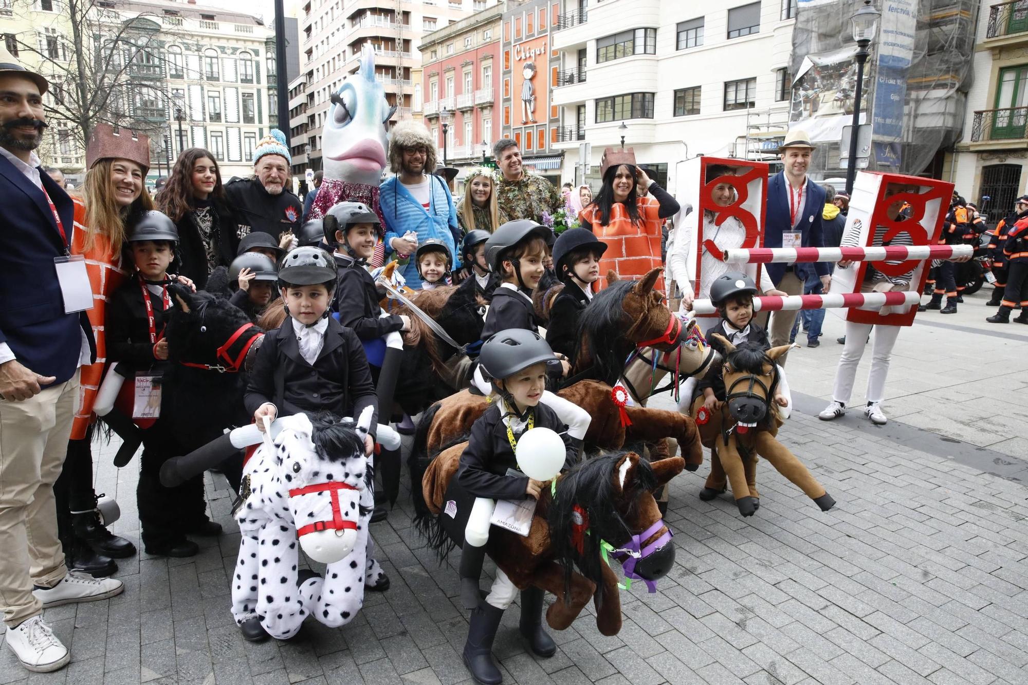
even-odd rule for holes
{"type": "Polygon", "coordinates": [[[325,240],[335,248],[336,286],[332,309],[339,323],[369,340],[393,331],[410,330],[405,315],[381,316],[381,295],[365,268],[378,242],[378,215],[363,203],[338,203],[325,215],[325,240]]]}

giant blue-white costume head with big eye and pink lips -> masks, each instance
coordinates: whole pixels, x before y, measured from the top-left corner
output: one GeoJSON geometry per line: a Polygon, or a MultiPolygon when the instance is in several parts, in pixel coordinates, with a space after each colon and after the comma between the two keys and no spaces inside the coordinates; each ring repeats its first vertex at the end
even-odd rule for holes
{"type": "MultiPolygon", "coordinates": [[[[389,149],[386,134],[396,106],[389,104],[384,88],[375,79],[375,51],[369,43],[361,48],[357,73],[343,77],[331,100],[322,136],[325,178],[309,218],[323,218],[337,203],[358,202],[374,210],[384,225],[378,209],[378,183],[389,149]]],[[[375,258],[380,265],[380,248],[375,258]]]]}

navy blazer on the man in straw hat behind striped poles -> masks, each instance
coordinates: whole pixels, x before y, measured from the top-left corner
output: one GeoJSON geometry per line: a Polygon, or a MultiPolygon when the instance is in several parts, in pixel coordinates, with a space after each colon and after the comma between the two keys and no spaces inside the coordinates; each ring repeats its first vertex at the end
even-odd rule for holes
{"type": "MultiPolygon", "coordinates": [[[[824,247],[824,237],[821,230],[824,189],[811,181],[808,176],[807,185],[803,188],[803,195],[805,200],[803,217],[796,227],[802,233],[800,244],[803,247],[824,247]]],[[[768,181],[767,207],[764,219],[764,247],[781,247],[782,233],[793,231],[793,224],[788,217],[788,182],[785,180],[785,172],[778,172],[768,181]]],[[[811,266],[817,276],[828,276],[828,262],[798,263],[796,264],[796,275],[800,281],[806,280],[811,266]]],[[[777,286],[781,283],[781,277],[785,275],[785,264],[778,262],[768,264],[767,267],[768,276],[777,286]]]]}

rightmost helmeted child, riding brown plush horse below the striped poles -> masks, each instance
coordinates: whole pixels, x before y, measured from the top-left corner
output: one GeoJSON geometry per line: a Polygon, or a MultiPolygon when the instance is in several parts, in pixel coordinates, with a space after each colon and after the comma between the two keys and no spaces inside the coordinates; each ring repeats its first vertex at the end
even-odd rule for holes
{"type": "MultiPolygon", "coordinates": [[[[721,320],[706,331],[710,347],[725,358],[725,347],[711,337],[711,333],[721,333],[733,345],[740,342],[757,342],[764,350],[771,349],[767,331],[754,321],[754,295],[757,293],[754,280],[740,272],[729,272],[719,276],[710,285],[710,300],[718,308],[721,320]]],[[[778,385],[775,390],[774,402],[782,407],[782,418],[788,417],[792,408],[792,396],[785,371],[780,365],[778,369],[778,385]]],[[[721,409],[725,401],[725,382],[721,364],[711,364],[706,376],[700,380],[698,387],[703,392],[703,405],[708,411],[721,409]]]]}

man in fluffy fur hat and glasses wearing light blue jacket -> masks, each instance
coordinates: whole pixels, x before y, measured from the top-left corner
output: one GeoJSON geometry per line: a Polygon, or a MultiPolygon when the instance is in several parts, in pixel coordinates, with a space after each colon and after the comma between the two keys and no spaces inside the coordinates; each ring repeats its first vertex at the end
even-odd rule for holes
{"type": "MultiPolygon", "coordinates": [[[[412,288],[421,287],[417,264],[408,259],[418,245],[435,238],[455,257],[461,242],[453,196],[445,179],[432,173],[436,158],[432,134],[424,124],[396,124],[389,145],[390,170],[396,175],[382,182],[378,202],[386,219],[386,253],[407,259],[401,273],[412,288]]],[[[453,268],[460,268],[460,261],[454,261],[453,268]]]]}

